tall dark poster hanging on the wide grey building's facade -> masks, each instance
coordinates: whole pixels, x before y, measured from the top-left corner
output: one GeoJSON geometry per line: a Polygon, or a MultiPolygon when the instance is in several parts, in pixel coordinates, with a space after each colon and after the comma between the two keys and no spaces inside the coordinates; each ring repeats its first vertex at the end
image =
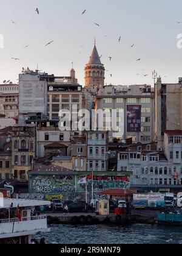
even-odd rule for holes
{"type": "Polygon", "coordinates": [[[127,132],[141,132],[141,105],[127,105],[127,132]]]}

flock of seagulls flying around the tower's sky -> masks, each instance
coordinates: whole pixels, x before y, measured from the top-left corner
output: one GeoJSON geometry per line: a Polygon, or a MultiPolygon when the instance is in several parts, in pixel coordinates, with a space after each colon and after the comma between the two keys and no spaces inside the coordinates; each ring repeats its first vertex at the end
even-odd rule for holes
{"type": "MultiPolygon", "coordinates": [[[[35,12],[37,13],[37,15],[39,15],[39,9],[38,9],[38,8],[35,9],[35,12]]],[[[82,15],[85,15],[86,12],[87,12],[87,10],[85,9],[81,14],[82,14],[82,15]]],[[[15,21],[13,21],[13,20],[11,20],[11,21],[12,21],[12,24],[15,24],[15,25],[16,25],[16,22],[15,22],[15,21]]],[[[177,24],[181,24],[181,23],[182,23],[181,21],[177,21],[177,24]]],[[[100,27],[100,25],[99,25],[98,23],[94,23],[94,24],[95,24],[95,26],[100,27]]],[[[105,37],[107,37],[107,36],[105,35],[105,37]]],[[[49,46],[49,45],[52,44],[53,42],[54,42],[53,40],[52,40],[52,41],[49,41],[48,43],[45,44],[44,47],[49,46]]],[[[120,35],[120,37],[118,38],[118,43],[120,43],[120,42],[121,42],[121,35],[120,35]]],[[[30,44],[26,45],[26,46],[25,46],[25,49],[29,48],[30,46],[31,46],[30,44]]],[[[84,48],[84,46],[81,46],[81,47],[84,48]]],[[[134,48],[134,47],[135,47],[135,44],[133,43],[132,45],[130,45],[130,47],[131,47],[131,48],[134,48]]],[[[102,56],[103,56],[103,55],[99,56],[99,58],[101,59],[102,56]]],[[[109,58],[109,60],[110,60],[110,62],[111,62],[112,57],[109,56],[108,58],[109,58]]],[[[19,61],[20,59],[19,59],[19,58],[12,57],[12,60],[19,61]]],[[[140,62],[140,61],[141,61],[140,58],[136,60],[136,62],[140,62]]],[[[136,75],[139,76],[140,74],[136,74],[136,75]]],[[[112,74],[110,74],[110,76],[112,77],[112,74]]],[[[144,76],[144,77],[147,77],[147,76],[149,76],[149,74],[143,74],[143,76],[144,76]]]]}

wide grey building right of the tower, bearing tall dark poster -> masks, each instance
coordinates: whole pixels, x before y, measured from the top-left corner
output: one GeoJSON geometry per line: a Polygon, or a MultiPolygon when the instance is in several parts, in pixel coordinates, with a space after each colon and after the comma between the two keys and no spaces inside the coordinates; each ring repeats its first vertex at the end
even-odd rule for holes
{"type": "MultiPolygon", "coordinates": [[[[150,85],[105,86],[98,92],[96,108],[109,110],[111,117],[112,110],[116,110],[118,129],[123,123],[123,136],[118,135],[120,140],[132,138],[141,143],[153,140],[154,94],[150,85]],[[124,118],[120,117],[120,110],[124,118]]],[[[112,118],[105,116],[103,121],[104,130],[112,131],[112,118]]],[[[112,140],[113,132],[109,132],[109,137],[112,140]]]]}

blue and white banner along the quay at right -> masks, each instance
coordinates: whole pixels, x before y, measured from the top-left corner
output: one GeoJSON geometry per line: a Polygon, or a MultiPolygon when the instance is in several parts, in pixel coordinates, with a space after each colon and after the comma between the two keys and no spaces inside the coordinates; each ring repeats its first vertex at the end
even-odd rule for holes
{"type": "Polygon", "coordinates": [[[164,205],[164,194],[133,194],[135,208],[161,208],[164,205]]]}

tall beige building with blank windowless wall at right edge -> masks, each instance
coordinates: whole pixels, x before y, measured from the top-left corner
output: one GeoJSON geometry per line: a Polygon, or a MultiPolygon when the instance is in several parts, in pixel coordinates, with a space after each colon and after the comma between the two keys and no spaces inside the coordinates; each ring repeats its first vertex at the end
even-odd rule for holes
{"type": "Polygon", "coordinates": [[[164,132],[182,130],[182,78],[177,84],[155,84],[155,139],[164,148],[164,132]]]}

